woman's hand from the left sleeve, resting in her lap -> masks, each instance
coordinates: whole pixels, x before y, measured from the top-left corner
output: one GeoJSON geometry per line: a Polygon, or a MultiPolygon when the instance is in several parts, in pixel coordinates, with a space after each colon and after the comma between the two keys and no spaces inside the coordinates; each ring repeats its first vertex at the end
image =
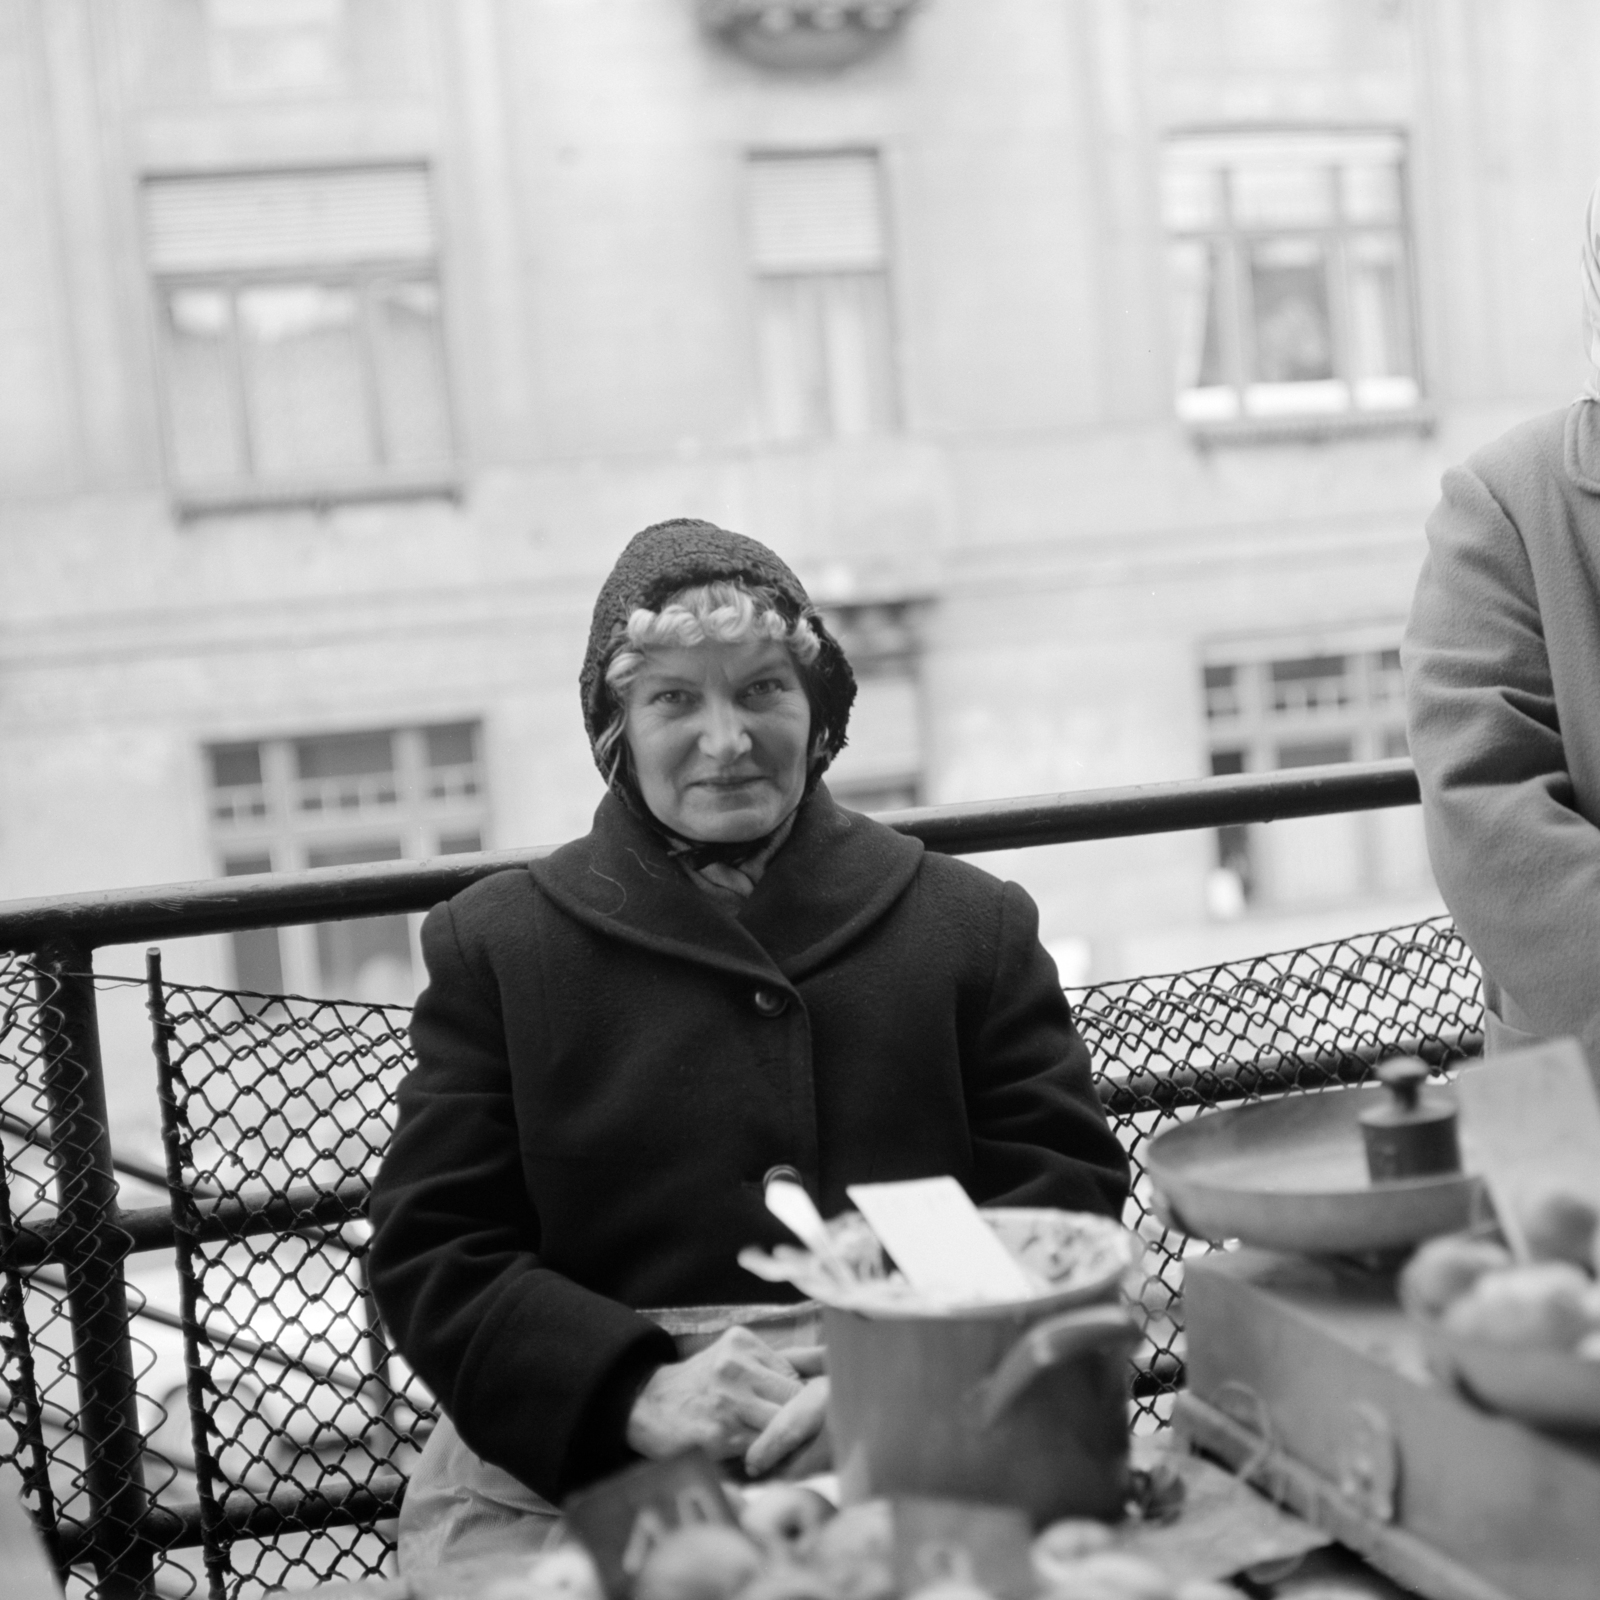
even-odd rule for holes
{"type": "MultiPolygon", "coordinates": [[[[811,1365],[811,1350],[795,1350],[811,1365]]],[[[686,1362],[658,1366],[627,1418],[627,1443],[661,1459],[699,1445],[714,1461],[749,1450],[802,1392],[802,1374],[747,1328],[730,1328],[686,1362]]]]}

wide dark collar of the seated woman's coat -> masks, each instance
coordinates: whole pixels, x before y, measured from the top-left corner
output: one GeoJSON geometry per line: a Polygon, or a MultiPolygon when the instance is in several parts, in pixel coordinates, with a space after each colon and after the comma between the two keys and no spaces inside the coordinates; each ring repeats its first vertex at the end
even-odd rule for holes
{"type": "Polygon", "coordinates": [[[611,794],[587,835],[528,872],[597,933],[757,981],[798,982],[870,928],[920,861],[918,840],[842,811],[818,786],[739,918],[690,883],[661,840],[611,794]]]}

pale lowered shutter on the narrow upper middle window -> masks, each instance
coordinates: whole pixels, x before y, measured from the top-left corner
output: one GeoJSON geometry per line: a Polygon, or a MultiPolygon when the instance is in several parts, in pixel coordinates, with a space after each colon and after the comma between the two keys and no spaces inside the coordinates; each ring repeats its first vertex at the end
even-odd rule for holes
{"type": "Polygon", "coordinates": [[[752,157],[750,243],[757,272],[880,269],[888,246],[877,157],[752,157]]]}

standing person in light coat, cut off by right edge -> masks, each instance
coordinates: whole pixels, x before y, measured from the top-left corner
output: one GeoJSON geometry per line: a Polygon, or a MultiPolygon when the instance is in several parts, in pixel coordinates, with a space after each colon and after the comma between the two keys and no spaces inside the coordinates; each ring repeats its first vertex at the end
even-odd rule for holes
{"type": "Polygon", "coordinates": [[[1582,288],[1584,392],[1445,474],[1402,664],[1488,1048],[1571,1034],[1600,1067],[1600,187],[1582,288]]]}

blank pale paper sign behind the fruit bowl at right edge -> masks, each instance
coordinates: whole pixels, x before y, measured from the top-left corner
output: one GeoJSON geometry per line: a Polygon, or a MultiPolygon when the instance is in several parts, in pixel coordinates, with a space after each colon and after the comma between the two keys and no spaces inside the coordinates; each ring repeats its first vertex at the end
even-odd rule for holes
{"type": "Polygon", "coordinates": [[[1501,1229],[1526,1256],[1522,1214],[1552,1189],[1600,1210],[1600,1096],[1582,1046],[1552,1038],[1456,1078],[1462,1160],[1488,1184],[1501,1229]]]}

